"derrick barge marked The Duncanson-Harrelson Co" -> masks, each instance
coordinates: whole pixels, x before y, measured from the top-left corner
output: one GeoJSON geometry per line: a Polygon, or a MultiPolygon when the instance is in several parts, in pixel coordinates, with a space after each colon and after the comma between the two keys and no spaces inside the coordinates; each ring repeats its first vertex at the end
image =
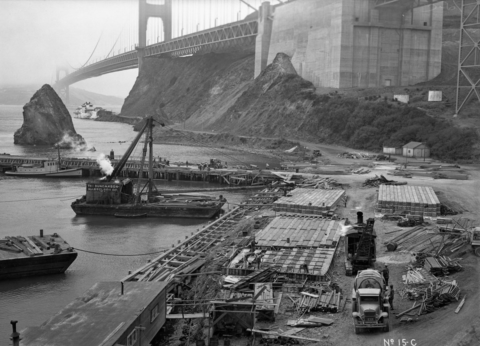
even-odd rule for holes
{"type": "MultiPolygon", "coordinates": [[[[160,124],[164,126],[164,124],[160,124]]],[[[210,218],[219,212],[226,199],[220,195],[218,199],[197,194],[161,194],[152,181],[153,117],[147,117],[133,142],[117,162],[110,175],[103,181],[87,182],[86,194],[71,203],[71,208],[77,215],[114,215],[116,217],[195,217],[210,218]],[[132,153],[141,135],[146,132],[143,144],[142,158],[138,172],[136,189],[130,178],[119,178],[119,173],[132,153]],[[144,161],[149,147],[148,180],[141,187],[144,161]]]]}

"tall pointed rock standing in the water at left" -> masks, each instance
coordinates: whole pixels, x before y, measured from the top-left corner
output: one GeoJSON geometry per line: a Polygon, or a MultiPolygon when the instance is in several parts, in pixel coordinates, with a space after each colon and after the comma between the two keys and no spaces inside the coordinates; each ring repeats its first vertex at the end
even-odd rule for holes
{"type": "Polygon", "coordinates": [[[68,109],[55,90],[44,84],[23,106],[23,124],[13,134],[13,143],[54,144],[58,141],[63,141],[62,147],[86,149],[86,142],[76,133],[68,109]]]}

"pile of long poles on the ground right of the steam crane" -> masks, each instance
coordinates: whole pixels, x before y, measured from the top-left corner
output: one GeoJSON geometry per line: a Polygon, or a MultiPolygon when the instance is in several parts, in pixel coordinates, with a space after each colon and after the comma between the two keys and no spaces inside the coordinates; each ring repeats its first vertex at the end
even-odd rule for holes
{"type": "Polygon", "coordinates": [[[402,232],[383,244],[386,245],[388,251],[396,249],[442,254],[448,251],[455,251],[464,243],[465,235],[463,233],[441,231],[436,225],[419,225],[402,232]]]}

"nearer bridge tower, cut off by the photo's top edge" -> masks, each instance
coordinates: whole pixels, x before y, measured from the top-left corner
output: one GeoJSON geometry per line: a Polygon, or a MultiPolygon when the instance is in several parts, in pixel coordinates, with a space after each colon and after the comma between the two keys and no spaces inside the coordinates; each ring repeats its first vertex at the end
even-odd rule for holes
{"type": "Polygon", "coordinates": [[[143,49],[146,46],[146,24],[149,17],[159,17],[163,22],[163,38],[171,39],[171,0],[164,0],[161,5],[138,1],[138,72],[141,69],[143,49]]]}

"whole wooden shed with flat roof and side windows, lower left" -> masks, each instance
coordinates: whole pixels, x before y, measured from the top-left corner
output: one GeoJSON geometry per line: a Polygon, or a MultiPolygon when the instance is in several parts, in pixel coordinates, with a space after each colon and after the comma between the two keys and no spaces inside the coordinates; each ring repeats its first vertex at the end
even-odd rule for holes
{"type": "Polygon", "coordinates": [[[97,282],[38,327],[22,346],[146,346],[165,322],[166,282],[97,282]]]}

